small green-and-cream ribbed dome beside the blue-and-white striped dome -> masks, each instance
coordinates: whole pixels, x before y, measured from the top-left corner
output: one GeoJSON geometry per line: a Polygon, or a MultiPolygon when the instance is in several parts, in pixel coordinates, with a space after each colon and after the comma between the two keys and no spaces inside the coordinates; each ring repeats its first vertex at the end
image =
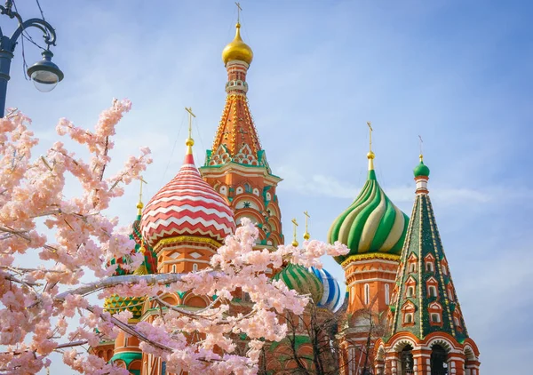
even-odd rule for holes
{"type": "Polygon", "coordinates": [[[306,267],[289,263],[274,275],[273,280],[281,280],[289,289],[298,291],[299,294],[309,294],[315,304],[322,300],[322,283],[313,272],[307,271],[306,267]]]}

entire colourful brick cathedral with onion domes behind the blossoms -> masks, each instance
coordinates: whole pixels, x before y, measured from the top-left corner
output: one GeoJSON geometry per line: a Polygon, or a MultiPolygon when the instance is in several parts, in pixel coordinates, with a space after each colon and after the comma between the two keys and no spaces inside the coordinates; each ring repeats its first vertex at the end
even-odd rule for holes
{"type": "MultiPolygon", "coordinates": [[[[204,164],[196,167],[189,126],[178,174],[146,207],[140,201],[137,205],[131,238],[145,260],[134,271],[136,275],[187,273],[207,267],[242,218],[251,219],[260,229],[257,249],[274,249],[285,241],[276,195],[282,178],[270,169],[253,124],[246,81],[253,52],[243,42],[240,27],[237,23],[234,40],[222,52],[227,99],[204,164]]],[[[342,316],[336,333],[341,355],[330,373],[479,375],[479,350],[468,336],[452,282],[428,194],[430,173],[423,156],[414,169],[415,202],[410,217],[379,186],[371,142],[367,158],[368,178],[360,194],[337,219],[331,218],[328,233],[328,242],[339,241],[350,250],[335,259],[345,271],[346,298],[325,269],[290,264],[272,277],[310,295],[318,316],[342,316]]],[[[304,237],[308,239],[308,233],[304,237]]],[[[120,267],[125,261],[113,260],[115,275],[127,274],[120,267]]],[[[207,296],[181,291],[162,299],[170,306],[191,308],[211,302],[207,296]]],[[[235,300],[245,306],[247,296],[235,296],[235,300]]],[[[157,305],[144,298],[113,296],[104,307],[111,314],[129,309],[130,323],[150,322],[159,314],[157,305]]],[[[305,331],[298,335],[300,339],[292,344],[309,358],[306,373],[318,373],[305,331]]],[[[91,351],[134,375],[168,373],[164,362],[143,354],[139,340],[124,333],[91,351]]],[[[298,373],[286,343],[273,343],[267,352],[261,364],[266,373],[298,373]]]]}

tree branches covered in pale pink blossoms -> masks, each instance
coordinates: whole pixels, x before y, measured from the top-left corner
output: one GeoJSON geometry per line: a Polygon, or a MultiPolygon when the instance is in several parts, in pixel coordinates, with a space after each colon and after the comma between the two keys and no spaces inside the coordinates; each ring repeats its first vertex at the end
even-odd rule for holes
{"type": "Polygon", "coordinates": [[[28,130],[28,117],[13,112],[0,119],[0,373],[36,373],[50,365],[48,356],[55,351],[76,371],[127,374],[79,350],[102,338],[114,339],[120,330],[138,337],[141,350],[162,357],[171,372],[256,373],[263,340],[281,340],[286,334],[277,316],[284,311],[301,314],[307,303],[306,296],[272,282],[267,269],[288,261],[320,267],[322,255],[347,251],[343,245],[317,241],[299,249],[253,251],[258,229],[244,221],[212,257],[211,267],[200,272],[111,276],[116,265],[110,266],[110,259],[129,256],[131,263],[121,266],[129,269],[143,260],[141,253],[131,254],[134,243],[128,231],[102,213],[151,163],[149,149],[141,148],[122,171],[106,177],[115,126],[130,108],[129,101],[114,100],[91,131],[60,120],[58,134],[84,145],[90,153],[87,161],[60,141],[44,156],[32,156],[38,140],[28,130]],[[71,191],[68,175],[79,181],[83,194],[66,196],[71,191]],[[43,266],[15,266],[18,256],[38,257],[43,266]],[[81,284],[87,272],[94,282],[81,284]],[[249,293],[253,305],[247,314],[229,315],[237,289],[249,293]],[[135,325],[128,323],[130,312],[109,315],[86,298],[99,291],[100,298],[118,294],[157,299],[164,291],[178,290],[217,298],[202,310],[169,307],[154,322],[135,325]],[[187,341],[191,332],[203,339],[187,341]],[[232,338],[242,333],[250,339],[248,351],[236,355],[232,338]]]}

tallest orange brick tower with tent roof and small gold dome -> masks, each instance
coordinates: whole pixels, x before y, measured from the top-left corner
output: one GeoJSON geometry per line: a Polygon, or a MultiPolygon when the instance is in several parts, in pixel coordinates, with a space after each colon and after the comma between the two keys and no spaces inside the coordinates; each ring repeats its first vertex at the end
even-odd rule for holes
{"type": "Polygon", "coordinates": [[[241,37],[237,22],[235,38],[222,52],[227,69],[226,105],[212,148],[200,168],[206,180],[235,211],[235,222],[248,217],[257,222],[261,247],[283,243],[281,211],[276,195],[275,176],[267,163],[265,150],[248,106],[246,73],[253,52],[241,37]]]}

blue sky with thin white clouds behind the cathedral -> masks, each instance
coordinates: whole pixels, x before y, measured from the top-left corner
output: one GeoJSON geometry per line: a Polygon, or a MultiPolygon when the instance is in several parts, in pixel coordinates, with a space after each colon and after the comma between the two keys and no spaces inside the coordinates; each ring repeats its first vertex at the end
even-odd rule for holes
{"type": "MultiPolygon", "coordinates": [[[[233,1],[41,4],[58,32],[53,60],[65,80],[53,92],[36,92],[22,76],[18,45],[7,105],[33,118],[42,148],[60,117],[92,126],[112,98],[129,98],[133,109],[113,156],[152,148],[147,198],[179,169],[185,106],[197,115],[195,159],[203,163],[225,100],[220,52],[235,33],[233,1]]],[[[287,238],[290,219],[303,221],[307,210],[311,235],[325,240],[357,195],[366,178],[367,121],[378,180],[410,213],[421,135],[437,224],[483,374],[527,373],[533,4],[241,4],[243,38],[254,52],[251,112],[269,164],[284,179],[278,195],[287,238]]],[[[19,10],[25,19],[39,15],[34,2],[20,2],[19,10]]],[[[8,23],[2,18],[4,32],[8,23]]],[[[34,46],[25,47],[28,64],[39,59],[34,46]]],[[[137,189],[128,188],[109,212],[124,225],[135,215],[137,189]]],[[[343,280],[334,261],[326,267],[343,280]]]]}

